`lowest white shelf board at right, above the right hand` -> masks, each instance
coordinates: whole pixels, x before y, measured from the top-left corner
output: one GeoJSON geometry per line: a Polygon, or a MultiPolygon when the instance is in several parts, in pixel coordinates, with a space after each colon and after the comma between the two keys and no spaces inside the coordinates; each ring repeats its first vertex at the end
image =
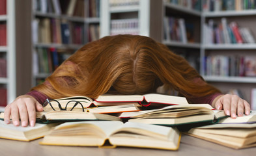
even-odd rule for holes
{"type": "Polygon", "coordinates": [[[219,83],[256,83],[256,77],[203,76],[205,81],[219,83]]]}

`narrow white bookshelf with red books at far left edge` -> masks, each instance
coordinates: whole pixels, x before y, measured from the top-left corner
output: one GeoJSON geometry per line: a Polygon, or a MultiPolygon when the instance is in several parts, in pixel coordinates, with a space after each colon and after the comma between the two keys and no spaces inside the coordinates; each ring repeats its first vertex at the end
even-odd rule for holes
{"type": "Polygon", "coordinates": [[[0,59],[5,63],[0,67],[5,74],[0,77],[0,111],[3,111],[16,98],[15,1],[1,1],[1,9],[0,59]]]}

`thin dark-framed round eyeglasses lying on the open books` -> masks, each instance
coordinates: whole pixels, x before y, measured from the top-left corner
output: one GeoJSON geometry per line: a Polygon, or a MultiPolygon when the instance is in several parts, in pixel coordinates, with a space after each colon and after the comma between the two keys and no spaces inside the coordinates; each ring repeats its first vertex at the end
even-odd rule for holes
{"type": "Polygon", "coordinates": [[[57,101],[55,99],[46,99],[46,101],[44,101],[44,103],[43,103],[43,107],[46,107],[46,105],[49,104],[51,109],[56,110],[56,107],[54,108],[53,104],[51,103],[53,101],[54,101],[54,103],[55,102],[57,103],[57,105],[59,107],[59,110],[68,110],[68,108],[71,108],[70,111],[72,111],[79,104],[79,105],[81,105],[83,112],[85,112],[85,109],[83,108],[83,104],[79,101],[76,101],[76,100],[68,101],[68,103],[66,103],[65,108],[63,109],[63,107],[61,106],[61,103],[59,103],[59,101],[57,101]],[[68,107],[68,105],[72,105],[72,104],[73,104],[73,107],[68,107]]]}

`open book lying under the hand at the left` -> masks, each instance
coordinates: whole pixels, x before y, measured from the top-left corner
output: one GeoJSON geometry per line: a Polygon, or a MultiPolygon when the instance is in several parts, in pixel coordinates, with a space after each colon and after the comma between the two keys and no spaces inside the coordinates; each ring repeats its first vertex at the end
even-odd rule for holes
{"type": "Polygon", "coordinates": [[[12,123],[6,124],[3,120],[0,120],[0,138],[20,141],[35,140],[36,138],[42,138],[44,135],[50,133],[50,130],[56,125],[57,123],[36,123],[35,127],[16,127],[12,123]]]}

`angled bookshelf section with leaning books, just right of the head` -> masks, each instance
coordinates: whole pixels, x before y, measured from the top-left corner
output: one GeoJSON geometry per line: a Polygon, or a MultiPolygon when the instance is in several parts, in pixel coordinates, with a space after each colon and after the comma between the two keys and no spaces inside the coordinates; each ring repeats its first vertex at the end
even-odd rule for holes
{"type": "Polygon", "coordinates": [[[162,43],[174,53],[182,55],[199,72],[200,61],[198,58],[202,46],[200,4],[183,6],[179,1],[165,0],[162,1],[162,6],[162,43]],[[186,32],[189,32],[190,36],[187,36],[186,32]]]}

